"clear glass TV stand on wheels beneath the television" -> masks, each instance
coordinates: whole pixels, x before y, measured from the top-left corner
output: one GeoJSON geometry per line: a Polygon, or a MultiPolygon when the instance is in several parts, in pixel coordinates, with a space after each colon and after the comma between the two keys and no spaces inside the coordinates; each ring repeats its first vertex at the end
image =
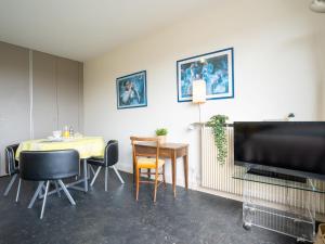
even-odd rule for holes
{"type": "Polygon", "coordinates": [[[278,179],[265,168],[259,167],[263,175],[251,169],[235,166],[233,175],[243,181],[243,227],[249,230],[256,226],[296,237],[297,242],[313,242],[316,195],[324,191],[311,179],[278,179]]]}

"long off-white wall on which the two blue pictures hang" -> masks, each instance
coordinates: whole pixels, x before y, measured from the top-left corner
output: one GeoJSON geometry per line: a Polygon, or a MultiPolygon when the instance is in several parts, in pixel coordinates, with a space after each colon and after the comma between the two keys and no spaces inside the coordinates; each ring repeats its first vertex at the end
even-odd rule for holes
{"type": "MultiPolygon", "coordinates": [[[[167,127],[169,141],[190,143],[194,188],[199,182],[199,137],[186,128],[198,120],[198,108],[178,103],[176,62],[229,47],[234,48],[235,98],[208,101],[203,106],[205,120],[214,114],[231,120],[283,118],[290,112],[299,120],[324,119],[324,102],[320,105],[324,63],[317,54],[324,46],[320,26],[325,15],[310,12],[308,4],[216,1],[206,12],[188,13],[181,23],[86,62],[86,133],[119,140],[119,167],[131,170],[129,137],[152,136],[157,127],[167,127]],[[142,69],[147,70],[148,106],[117,110],[115,79],[142,69]]],[[[181,184],[182,169],[179,164],[181,184]]]]}

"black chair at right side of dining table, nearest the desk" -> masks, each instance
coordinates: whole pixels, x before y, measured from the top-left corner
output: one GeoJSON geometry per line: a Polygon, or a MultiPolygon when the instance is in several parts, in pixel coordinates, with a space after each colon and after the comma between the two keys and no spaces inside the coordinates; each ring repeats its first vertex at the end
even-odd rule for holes
{"type": "Polygon", "coordinates": [[[94,184],[102,167],[105,167],[105,191],[107,191],[107,180],[108,180],[108,168],[112,167],[118,177],[119,181],[123,184],[125,181],[120,177],[118,170],[116,169],[115,165],[118,162],[118,141],[110,140],[108,141],[107,145],[105,146],[104,157],[90,157],[87,159],[87,163],[90,166],[98,166],[98,170],[94,172],[90,187],[94,184]]]}

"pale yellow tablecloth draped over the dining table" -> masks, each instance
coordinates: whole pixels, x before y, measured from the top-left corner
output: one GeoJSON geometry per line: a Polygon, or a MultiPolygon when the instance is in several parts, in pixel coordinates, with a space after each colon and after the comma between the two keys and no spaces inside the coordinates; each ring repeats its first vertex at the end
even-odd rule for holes
{"type": "Polygon", "coordinates": [[[66,139],[63,141],[50,141],[47,139],[24,141],[16,152],[16,159],[20,159],[22,151],[50,151],[74,149],[79,152],[80,158],[103,157],[105,141],[101,137],[82,137],[66,139]]]}

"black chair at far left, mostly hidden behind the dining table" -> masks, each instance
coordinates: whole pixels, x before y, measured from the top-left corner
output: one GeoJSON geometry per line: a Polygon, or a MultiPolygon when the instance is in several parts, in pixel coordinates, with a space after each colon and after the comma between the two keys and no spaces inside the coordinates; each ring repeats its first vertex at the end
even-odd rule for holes
{"type": "Polygon", "coordinates": [[[11,176],[11,180],[8,184],[8,187],[5,188],[5,191],[3,193],[4,196],[8,195],[8,193],[10,192],[13,183],[15,182],[18,172],[20,172],[20,168],[18,168],[18,162],[15,159],[15,154],[16,151],[18,149],[20,144],[13,144],[13,145],[9,145],[5,147],[4,150],[4,155],[5,155],[5,171],[8,172],[8,175],[11,176]]]}

